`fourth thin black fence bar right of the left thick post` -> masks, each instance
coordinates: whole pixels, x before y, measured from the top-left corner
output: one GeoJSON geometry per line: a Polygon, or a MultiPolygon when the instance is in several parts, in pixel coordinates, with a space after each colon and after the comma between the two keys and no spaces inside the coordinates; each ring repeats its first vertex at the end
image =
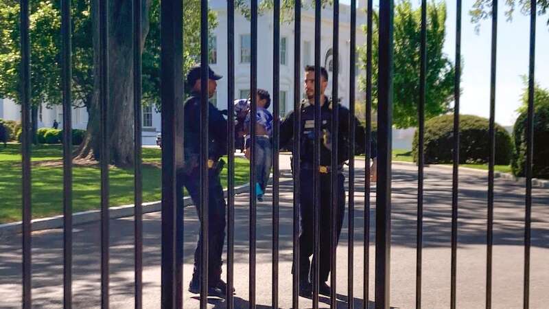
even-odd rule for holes
{"type": "Polygon", "coordinates": [[[274,114],[274,126],[272,129],[272,308],[279,308],[280,0],[274,0],[273,14],[272,100],[274,105],[272,106],[272,113],[274,114]]]}

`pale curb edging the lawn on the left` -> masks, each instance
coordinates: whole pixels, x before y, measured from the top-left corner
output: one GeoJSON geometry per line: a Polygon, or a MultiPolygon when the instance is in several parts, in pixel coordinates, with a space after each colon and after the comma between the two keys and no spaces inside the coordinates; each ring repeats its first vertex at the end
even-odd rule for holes
{"type": "MultiPolygon", "coordinates": [[[[235,194],[248,192],[249,183],[235,187],[235,194]]],[[[227,197],[227,190],[223,190],[223,194],[227,197]]],[[[161,201],[143,203],[143,214],[160,211],[162,209],[161,201]]],[[[193,205],[191,197],[187,196],[183,200],[184,207],[193,205]]],[[[134,205],[122,205],[110,207],[108,215],[110,219],[124,218],[134,215],[134,205]]],[[[82,225],[84,223],[101,220],[101,211],[98,209],[81,211],[73,214],[73,225],[82,225]]],[[[45,229],[59,229],[63,227],[63,216],[54,216],[49,218],[34,219],[31,221],[32,231],[43,231],[45,229]]],[[[0,225],[0,237],[10,236],[23,231],[23,222],[10,222],[0,225]]]]}

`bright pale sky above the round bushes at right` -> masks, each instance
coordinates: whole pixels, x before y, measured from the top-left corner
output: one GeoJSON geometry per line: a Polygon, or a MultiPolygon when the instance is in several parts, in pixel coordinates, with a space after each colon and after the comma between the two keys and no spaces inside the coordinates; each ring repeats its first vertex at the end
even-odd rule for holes
{"type": "MultiPolygon", "coordinates": [[[[395,0],[395,3],[397,1],[395,0]]],[[[421,0],[411,1],[415,8],[421,6],[421,0]]],[[[342,0],[342,2],[350,3],[349,0],[342,0]]],[[[456,1],[445,2],[447,4],[447,20],[443,51],[454,62],[456,1]]],[[[498,12],[495,121],[503,126],[512,126],[517,119],[516,110],[522,104],[521,96],[524,84],[521,76],[528,74],[530,16],[525,16],[517,9],[513,14],[513,20],[507,21],[504,13],[508,8],[504,2],[500,1],[498,12]]],[[[462,3],[461,58],[463,74],[460,113],[489,117],[491,18],[482,21],[480,31],[476,32],[469,15],[474,0],[463,0],[462,3]]],[[[548,14],[537,16],[535,57],[535,80],[546,89],[549,89],[549,26],[546,24],[548,17],[548,14]]]]}

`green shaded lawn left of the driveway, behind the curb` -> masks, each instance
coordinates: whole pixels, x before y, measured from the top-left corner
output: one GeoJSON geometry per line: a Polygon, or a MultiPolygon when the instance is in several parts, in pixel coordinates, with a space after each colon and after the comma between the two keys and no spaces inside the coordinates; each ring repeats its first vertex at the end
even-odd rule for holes
{"type": "MultiPolygon", "coordinates": [[[[143,148],[143,162],[160,162],[158,148],[143,148]]],[[[62,146],[40,145],[32,148],[32,161],[58,160],[62,158],[62,146]]],[[[226,161],[226,159],[225,159],[226,161]]],[[[235,159],[235,184],[248,181],[249,164],[246,159],[235,159]]],[[[226,168],[222,171],[222,185],[226,187],[226,168]]],[[[100,169],[97,167],[73,167],[73,211],[100,208],[100,169]]],[[[133,203],[133,169],[109,170],[109,197],[111,206],[133,203]]],[[[62,214],[62,167],[32,167],[32,217],[43,218],[62,214]]],[[[21,220],[21,155],[19,144],[0,146],[0,223],[21,220]],[[8,192],[8,194],[4,194],[8,192]]],[[[161,198],[161,169],[143,165],[143,201],[159,201],[161,198]]]]}

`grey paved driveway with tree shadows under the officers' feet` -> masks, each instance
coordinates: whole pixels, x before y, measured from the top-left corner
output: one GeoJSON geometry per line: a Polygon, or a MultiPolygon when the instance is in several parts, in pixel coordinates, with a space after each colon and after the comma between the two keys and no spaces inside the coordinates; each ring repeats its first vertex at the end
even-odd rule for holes
{"type": "MultiPolygon", "coordinates": [[[[353,256],[355,308],[364,298],[364,172],[357,163],[355,194],[355,243],[353,256]]],[[[362,166],[361,166],[362,164],[362,166]]],[[[281,168],[288,168],[284,157],[281,168]]],[[[452,171],[427,168],[423,238],[423,308],[449,308],[450,218],[452,171]]],[[[416,264],[417,167],[393,165],[393,233],[391,249],[391,305],[414,308],[416,264]]],[[[280,192],[280,266],[279,305],[290,308],[292,297],[292,183],[282,173],[280,192]]],[[[475,172],[460,174],[459,246],[457,275],[458,308],[484,308],[486,273],[486,176],[475,172]]],[[[257,304],[270,308],[272,260],[272,207],[270,190],[257,207],[257,304]]],[[[549,192],[534,190],[530,308],[548,308],[549,304],[549,192]]],[[[375,201],[375,187],[373,187],[375,201]]],[[[236,308],[248,308],[248,195],[236,197],[235,207],[235,295],[236,308]]],[[[160,213],[143,218],[143,301],[145,308],[160,308],[161,222],[160,213]]],[[[375,231],[375,203],[370,213],[375,231]]],[[[100,225],[74,227],[73,301],[74,308],[100,308],[100,225]]],[[[185,209],[185,288],[192,271],[192,254],[199,229],[194,207],[185,209]]],[[[110,307],[133,308],[133,220],[110,222],[110,307]]],[[[338,247],[338,308],[347,308],[347,218],[338,247]]],[[[375,233],[371,233],[375,240],[375,233]]],[[[524,263],[524,184],[495,181],[495,225],[493,250],[493,308],[522,308],[524,263]]],[[[62,230],[33,234],[33,305],[34,308],[62,306],[62,230]]],[[[370,297],[373,306],[374,254],[370,246],[370,297]]],[[[226,273],[226,271],[224,271],[226,273]]],[[[21,308],[21,237],[0,240],[0,308],[21,308]]],[[[185,308],[198,308],[198,297],[185,290],[185,308]]],[[[322,307],[329,299],[321,297],[322,307]]],[[[225,308],[220,299],[210,299],[211,308],[225,308]]],[[[312,308],[309,299],[300,299],[301,308],[312,308]]]]}

